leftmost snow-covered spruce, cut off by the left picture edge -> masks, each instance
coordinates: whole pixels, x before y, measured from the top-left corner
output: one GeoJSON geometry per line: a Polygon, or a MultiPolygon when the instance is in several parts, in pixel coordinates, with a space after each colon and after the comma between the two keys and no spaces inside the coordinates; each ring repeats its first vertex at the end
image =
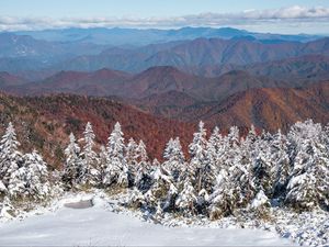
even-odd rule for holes
{"type": "Polygon", "coordinates": [[[22,154],[18,150],[20,143],[10,122],[0,141],[0,180],[7,187],[10,177],[22,166],[22,154]]]}

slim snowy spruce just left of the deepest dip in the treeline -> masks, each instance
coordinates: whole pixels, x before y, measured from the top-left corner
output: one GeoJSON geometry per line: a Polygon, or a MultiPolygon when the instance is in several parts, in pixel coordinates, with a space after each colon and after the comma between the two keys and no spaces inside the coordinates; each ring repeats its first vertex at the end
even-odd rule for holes
{"type": "Polygon", "coordinates": [[[144,142],[140,139],[137,147],[137,172],[135,179],[135,186],[140,191],[147,191],[151,183],[151,166],[148,160],[148,155],[146,153],[146,146],[144,142]]]}

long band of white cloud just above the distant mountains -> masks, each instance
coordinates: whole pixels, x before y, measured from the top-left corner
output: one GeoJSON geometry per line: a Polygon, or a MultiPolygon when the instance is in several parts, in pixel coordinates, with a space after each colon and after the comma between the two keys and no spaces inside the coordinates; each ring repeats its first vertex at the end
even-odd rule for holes
{"type": "Polygon", "coordinates": [[[275,10],[246,10],[237,13],[201,13],[168,18],[14,18],[0,16],[0,31],[44,30],[64,27],[179,27],[202,26],[257,26],[266,23],[296,24],[328,23],[329,8],[293,5],[275,10]]]}

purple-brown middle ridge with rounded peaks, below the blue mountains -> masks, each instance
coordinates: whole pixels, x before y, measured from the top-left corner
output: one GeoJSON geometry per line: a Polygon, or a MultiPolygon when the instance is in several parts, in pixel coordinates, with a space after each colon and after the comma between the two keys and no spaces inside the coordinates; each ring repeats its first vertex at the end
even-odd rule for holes
{"type": "Polygon", "coordinates": [[[297,81],[274,80],[253,76],[242,70],[231,70],[215,78],[186,74],[171,66],[157,66],[137,75],[101,69],[93,72],[60,71],[37,82],[5,83],[0,87],[20,96],[75,93],[81,96],[143,99],[169,91],[184,92],[198,101],[222,101],[227,97],[252,88],[303,87],[297,81]]]}

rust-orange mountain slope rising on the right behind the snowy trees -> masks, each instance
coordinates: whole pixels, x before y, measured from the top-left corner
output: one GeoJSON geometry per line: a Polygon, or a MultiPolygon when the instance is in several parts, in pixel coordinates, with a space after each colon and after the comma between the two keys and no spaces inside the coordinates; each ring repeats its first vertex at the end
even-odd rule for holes
{"type": "Polygon", "coordinates": [[[159,116],[183,122],[205,121],[211,126],[230,125],[286,131],[296,121],[329,122],[329,81],[303,89],[253,88],[231,94],[225,101],[200,102],[171,91],[133,102],[159,116]]]}

